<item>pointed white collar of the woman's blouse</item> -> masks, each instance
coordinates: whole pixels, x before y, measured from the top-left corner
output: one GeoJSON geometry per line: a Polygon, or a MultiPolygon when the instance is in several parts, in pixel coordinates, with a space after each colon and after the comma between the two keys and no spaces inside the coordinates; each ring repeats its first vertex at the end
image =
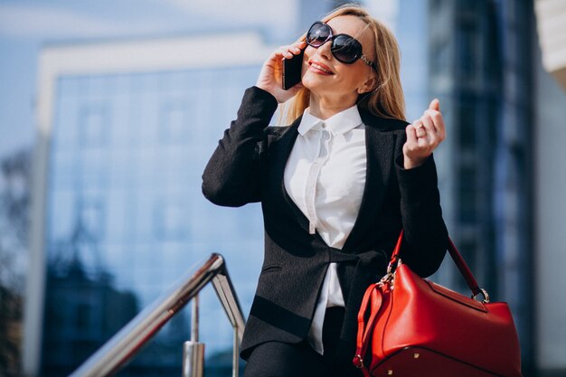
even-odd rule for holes
{"type": "Polygon", "coordinates": [[[310,113],[310,108],[306,108],[301,123],[298,125],[298,133],[305,135],[311,129],[322,129],[323,123],[333,135],[342,135],[360,126],[363,122],[357,105],[346,108],[326,120],[316,118],[310,113]]]}

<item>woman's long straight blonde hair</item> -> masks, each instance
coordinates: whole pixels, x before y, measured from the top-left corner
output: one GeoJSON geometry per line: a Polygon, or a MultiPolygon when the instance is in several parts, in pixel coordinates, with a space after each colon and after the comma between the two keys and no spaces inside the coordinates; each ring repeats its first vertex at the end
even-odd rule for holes
{"type": "MultiPolygon", "coordinates": [[[[401,88],[401,54],[395,36],[387,26],[374,19],[360,5],[348,4],[336,8],[321,20],[325,23],[341,15],[354,15],[359,17],[372,31],[375,40],[374,54],[376,57],[375,71],[377,85],[369,92],[360,95],[358,107],[369,110],[373,115],[383,118],[405,119],[405,99],[401,88]]],[[[299,38],[304,41],[306,35],[299,38]]],[[[287,124],[300,117],[305,108],[309,106],[310,90],[304,88],[289,100],[286,110],[282,110],[283,118],[287,124]]]]}

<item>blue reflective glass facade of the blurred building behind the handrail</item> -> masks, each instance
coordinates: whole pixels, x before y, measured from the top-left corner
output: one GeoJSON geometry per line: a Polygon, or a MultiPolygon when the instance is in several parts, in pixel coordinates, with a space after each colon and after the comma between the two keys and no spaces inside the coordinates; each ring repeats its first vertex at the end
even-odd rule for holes
{"type": "MultiPolygon", "coordinates": [[[[203,198],[200,183],[258,71],[244,66],[58,79],[42,375],[71,372],[212,251],[227,259],[249,310],[262,255],[259,206],[216,208],[203,198]]],[[[210,289],[201,306],[207,356],[230,352],[231,327],[210,289]]],[[[176,316],[120,375],[181,372],[188,316],[188,310],[176,316]]]]}

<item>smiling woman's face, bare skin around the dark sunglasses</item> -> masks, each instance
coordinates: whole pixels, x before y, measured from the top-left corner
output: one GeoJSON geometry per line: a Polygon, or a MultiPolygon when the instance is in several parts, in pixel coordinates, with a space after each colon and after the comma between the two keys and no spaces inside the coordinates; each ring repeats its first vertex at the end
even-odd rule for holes
{"type": "MultiPolygon", "coordinates": [[[[366,24],[354,15],[341,15],[328,21],[332,33],[348,34],[362,43],[363,54],[375,62],[373,33],[366,24]]],[[[303,85],[315,96],[330,97],[352,104],[358,98],[358,89],[374,77],[373,69],[358,59],[353,64],[337,61],[330,52],[332,42],[325,42],[319,48],[307,45],[303,60],[303,85]]],[[[365,88],[369,91],[372,88],[365,88]]]]}

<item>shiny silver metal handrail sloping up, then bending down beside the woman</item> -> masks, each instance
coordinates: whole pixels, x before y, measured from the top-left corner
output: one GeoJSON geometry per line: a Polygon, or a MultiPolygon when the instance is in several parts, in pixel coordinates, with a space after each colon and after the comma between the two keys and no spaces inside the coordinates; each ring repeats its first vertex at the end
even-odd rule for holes
{"type": "MultiPolygon", "coordinates": [[[[212,280],[222,307],[234,328],[234,368],[238,368],[237,350],[241,343],[245,320],[240,302],[231,284],[224,258],[212,254],[195,272],[179,279],[162,297],[141,311],[116,335],[80,367],[71,377],[104,377],[118,372],[146,344],[167,321],[179,312],[204,286],[212,280]]],[[[181,367],[179,367],[181,368],[181,367]]]]}

